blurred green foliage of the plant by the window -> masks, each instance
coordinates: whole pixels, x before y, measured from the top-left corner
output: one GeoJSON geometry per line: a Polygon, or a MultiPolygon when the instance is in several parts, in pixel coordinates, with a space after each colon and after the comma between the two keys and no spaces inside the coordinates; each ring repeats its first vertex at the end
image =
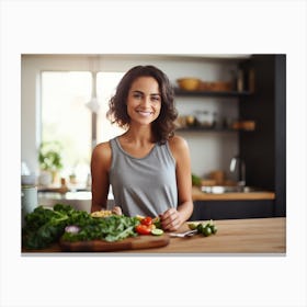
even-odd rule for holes
{"type": "Polygon", "coordinates": [[[59,171],[62,169],[61,145],[59,141],[44,141],[39,146],[38,162],[42,170],[59,171]]]}

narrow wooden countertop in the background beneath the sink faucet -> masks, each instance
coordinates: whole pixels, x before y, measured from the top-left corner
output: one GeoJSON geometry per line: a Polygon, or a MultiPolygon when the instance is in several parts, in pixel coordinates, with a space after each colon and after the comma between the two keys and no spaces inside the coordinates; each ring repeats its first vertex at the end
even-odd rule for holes
{"type": "Polygon", "coordinates": [[[193,201],[252,201],[252,200],[275,200],[275,193],[269,191],[257,191],[249,193],[204,193],[200,187],[192,187],[193,201]]]}

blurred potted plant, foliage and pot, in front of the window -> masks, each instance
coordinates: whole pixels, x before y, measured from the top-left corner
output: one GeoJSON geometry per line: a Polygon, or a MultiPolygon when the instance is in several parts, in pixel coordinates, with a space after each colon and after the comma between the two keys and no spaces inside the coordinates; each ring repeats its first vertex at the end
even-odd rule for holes
{"type": "Polygon", "coordinates": [[[43,185],[54,183],[58,172],[62,169],[61,145],[59,141],[43,141],[38,150],[41,173],[45,175],[43,185]],[[50,180],[46,179],[49,174],[50,180]],[[50,181],[50,182],[48,182],[50,181]]]}

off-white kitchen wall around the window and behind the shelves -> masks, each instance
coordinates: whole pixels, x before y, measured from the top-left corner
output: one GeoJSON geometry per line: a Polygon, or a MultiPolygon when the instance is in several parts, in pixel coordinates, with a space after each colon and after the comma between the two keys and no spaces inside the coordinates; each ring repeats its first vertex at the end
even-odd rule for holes
{"type": "MultiPolygon", "coordinates": [[[[235,60],[236,61],[236,60],[235,60]]],[[[228,80],[234,61],[216,61],[196,56],[178,55],[23,55],[21,100],[21,157],[32,170],[38,172],[37,147],[41,143],[39,71],[41,70],[101,70],[126,71],[135,65],[155,65],[175,84],[181,77],[202,80],[228,80]]],[[[178,98],[180,113],[195,110],[217,111],[221,115],[237,116],[236,99],[178,98]]],[[[204,175],[212,170],[228,171],[230,159],[238,151],[238,137],[231,133],[181,133],[187,140],[192,157],[192,172],[204,175]]]]}

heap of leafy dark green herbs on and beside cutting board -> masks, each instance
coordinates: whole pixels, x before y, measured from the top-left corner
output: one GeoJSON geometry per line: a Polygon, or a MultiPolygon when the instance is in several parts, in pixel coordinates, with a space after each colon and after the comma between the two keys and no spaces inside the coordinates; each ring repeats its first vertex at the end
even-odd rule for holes
{"type": "Polygon", "coordinates": [[[138,224],[136,217],[112,215],[96,218],[69,205],[56,204],[53,209],[38,206],[27,214],[22,238],[27,249],[44,249],[60,237],[67,241],[101,239],[113,242],[137,236],[134,228],[138,224]],[[65,228],[70,225],[78,226],[80,231],[66,232],[65,228]]]}

